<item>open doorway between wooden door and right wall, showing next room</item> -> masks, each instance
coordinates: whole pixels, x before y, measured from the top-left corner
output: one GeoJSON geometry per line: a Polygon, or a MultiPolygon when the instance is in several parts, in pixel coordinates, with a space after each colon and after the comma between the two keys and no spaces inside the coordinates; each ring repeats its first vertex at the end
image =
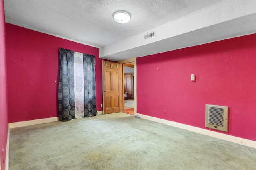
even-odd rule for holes
{"type": "Polygon", "coordinates": [[[124,109],[122,112],[134,115],[134,62],[123,65],[124,109]]]}

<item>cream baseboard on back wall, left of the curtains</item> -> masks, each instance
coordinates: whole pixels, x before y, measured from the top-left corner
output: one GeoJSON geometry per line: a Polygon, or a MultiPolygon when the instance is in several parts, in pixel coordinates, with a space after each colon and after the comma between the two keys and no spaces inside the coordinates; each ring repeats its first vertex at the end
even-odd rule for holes
{"type": "Polygon", "coordinates": [[[10,129],[16,128],[16,127],[23,127],[23,126],[29,126],[29,125],[38,125],[42,123],[50,123],[54,121],[58,121],[59,117],[50,117],[45,119],[36,119],[36,120],[28,120],[28,121],[19,121],[14,123],[9,123],[10,129]]]}

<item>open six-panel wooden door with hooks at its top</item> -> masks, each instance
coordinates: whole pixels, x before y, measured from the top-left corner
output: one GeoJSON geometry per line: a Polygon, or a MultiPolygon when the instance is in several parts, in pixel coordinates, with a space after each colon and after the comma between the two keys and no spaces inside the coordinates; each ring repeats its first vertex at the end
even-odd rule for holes
{"type": "Polygon", "coordinates": [[[121,111],[122,65],[102,61],[103,78],[103,114],[121,111]]]}

